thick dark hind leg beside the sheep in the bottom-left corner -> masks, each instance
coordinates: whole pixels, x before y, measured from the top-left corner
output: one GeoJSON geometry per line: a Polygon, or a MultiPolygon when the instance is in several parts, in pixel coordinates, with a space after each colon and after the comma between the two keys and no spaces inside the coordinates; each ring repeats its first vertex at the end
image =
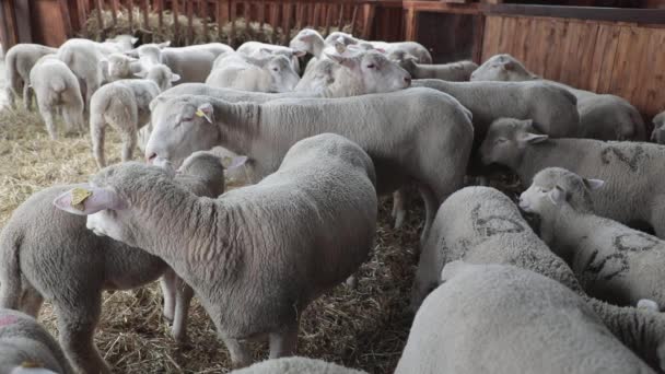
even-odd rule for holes
{"type": "Polygon", "coordinates": [[[60,344],[71,364],[79,372],[110,373],[110,369],[106,365],[93,340],[102,312],[101,299],[101,292],[93,291],[73,295],[68,303],[55,305],[58,315],[60,344]],[[71,301],[74,302],[71,303],[71,301]]]}

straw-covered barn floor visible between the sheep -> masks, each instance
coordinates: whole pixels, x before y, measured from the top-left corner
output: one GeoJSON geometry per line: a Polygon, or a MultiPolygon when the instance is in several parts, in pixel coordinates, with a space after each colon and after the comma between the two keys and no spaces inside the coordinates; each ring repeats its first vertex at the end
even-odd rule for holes
{"type": "MultiPolygon", "coordinates": [[[[119,161],[119,138],[109,132],[106,154],[113,163],[119,161]]],[[[139,153],[137,150],[137,160],[139,153]]],[[[52,141],[38,114],[0,109],[0,227],[33,192],[56,184],[85,182],[95,171],[88,135],[61,135],[52,141]]],[[[393,372],[412,319],[408,300],[423,213],[417,207],[409,212],[405,229],[393,230],[388,202],[382,203],[376,244],[360,270],[358,289],[339,285],[304,313],[300,354],[370,373],[393,372]]],[[[156,283],[105,293],[95,342],[116,372],[228,372],[226,350],[198,301],[191,306],[189,342],[185,347],[171,338],[161,316],[161,302],[156,283]]],[[[48,303],[40,320],[57,335],[48,303]]],[[[258,346],[256,358],[266,355],[266,344],[258,346]]]]}

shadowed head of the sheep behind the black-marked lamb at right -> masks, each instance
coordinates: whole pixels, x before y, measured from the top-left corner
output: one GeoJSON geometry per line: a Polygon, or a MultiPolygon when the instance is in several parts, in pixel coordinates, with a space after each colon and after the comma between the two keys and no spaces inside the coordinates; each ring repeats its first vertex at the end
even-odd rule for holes
{"type": "Polygon", "coordinates": [[[492,122],[480,145],[482,163],[514,167],[518,164],[524,149],[548,139],[546,135],[533,132],[532,120],[501,118],[492,122]]]}

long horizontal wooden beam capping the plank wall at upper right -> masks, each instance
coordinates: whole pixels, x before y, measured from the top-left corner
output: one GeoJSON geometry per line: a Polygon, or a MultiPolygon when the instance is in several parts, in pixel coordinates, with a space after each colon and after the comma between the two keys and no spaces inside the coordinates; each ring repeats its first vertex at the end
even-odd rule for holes
{"type": "Polygon", "coordinates": [[[481,4],[480,9],[486,14],[552,16],[562,19],[630,22],[641,24],[665,23],[665,10],[654,9],[618,9],[597,7],[555,7],[521,4],[481,4]]]}

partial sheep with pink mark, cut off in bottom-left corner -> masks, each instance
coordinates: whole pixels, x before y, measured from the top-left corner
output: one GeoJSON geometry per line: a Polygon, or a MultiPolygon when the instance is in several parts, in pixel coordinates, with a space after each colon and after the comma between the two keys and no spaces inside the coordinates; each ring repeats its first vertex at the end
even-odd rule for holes
{"type": "Polygon", "coordinates": [[[0,308],[0,373],[74,372],[58,342],[33,317],[0,308]]]}

